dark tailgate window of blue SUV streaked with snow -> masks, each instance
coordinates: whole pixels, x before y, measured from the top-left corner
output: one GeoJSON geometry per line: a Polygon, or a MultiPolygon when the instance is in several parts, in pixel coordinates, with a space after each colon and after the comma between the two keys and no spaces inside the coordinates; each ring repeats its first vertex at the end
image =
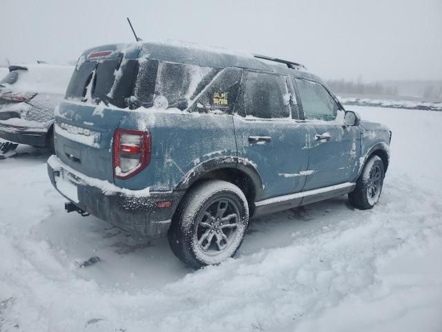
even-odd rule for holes
{"type": "Polygon", "coordinates": [[[75,69],[66,90],[66,99],[104,102],[117,107],[129,106],[137,60],[86,61],[75,69]]]}

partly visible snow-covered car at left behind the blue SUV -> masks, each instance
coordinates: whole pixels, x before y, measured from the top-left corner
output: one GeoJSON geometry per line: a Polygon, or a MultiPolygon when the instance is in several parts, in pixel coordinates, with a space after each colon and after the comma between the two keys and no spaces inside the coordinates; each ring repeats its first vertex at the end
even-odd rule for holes
{"type": "Polygon", "coordinates": [[[54,109],[64,98],[73,66],[10,66],[0,80],[0,138],[53,148],[54,109]]]}

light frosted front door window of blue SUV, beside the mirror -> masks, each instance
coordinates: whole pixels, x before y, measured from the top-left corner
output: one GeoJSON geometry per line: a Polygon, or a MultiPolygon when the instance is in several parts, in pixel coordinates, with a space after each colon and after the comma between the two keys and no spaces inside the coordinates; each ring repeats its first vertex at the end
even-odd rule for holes
{"type": "Polygon", "coordinates": [[[307,80],[295,80],[307,120],[331,121],[336,118],[338,104],[324,86],[307,80]]]}

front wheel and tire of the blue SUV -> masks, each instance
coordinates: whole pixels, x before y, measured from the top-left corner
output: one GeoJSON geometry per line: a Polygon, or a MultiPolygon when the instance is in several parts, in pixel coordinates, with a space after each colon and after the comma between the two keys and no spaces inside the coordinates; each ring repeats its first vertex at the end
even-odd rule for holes
{"type": "Polygon", "coordinates": [[[381,196],[384,176],[384,164],[381,158],[370,157],[356,181],[354,191],[348,194],[350,203],[361,210],[373,208],[381,196]]]}

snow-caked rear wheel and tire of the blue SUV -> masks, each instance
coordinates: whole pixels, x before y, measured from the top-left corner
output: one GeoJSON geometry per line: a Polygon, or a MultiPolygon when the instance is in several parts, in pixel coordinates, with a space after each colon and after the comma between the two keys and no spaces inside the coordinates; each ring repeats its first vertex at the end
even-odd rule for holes
{"type": "Polygon", "coordinates": [[[207,180],[184,196],[169,229],[169,245],[194,268],[220,264],[236,254],[248,224],[249,205],[240,188],[207,180]]]}

